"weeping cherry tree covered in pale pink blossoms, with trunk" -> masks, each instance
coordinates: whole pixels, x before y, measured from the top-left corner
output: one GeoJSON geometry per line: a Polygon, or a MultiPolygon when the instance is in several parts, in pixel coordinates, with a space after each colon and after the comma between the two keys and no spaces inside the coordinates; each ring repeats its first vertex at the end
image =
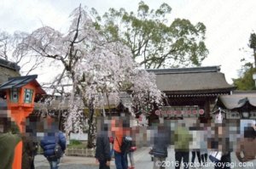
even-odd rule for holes
{"type": "Polygon", "coordinates": [[[145,109],[150,104],[160,104],[161,93],[155,85],[154,75],[139,69],[124,43],[108,42],[96,31],[84,8],[76,8],[71,18],[66,33],[44,26],[33,31],[20,46],[30,53],[54,59],[55,64],[64,69],[55,83],[71,83],[66,91],[71,94],[65,129],[67,132],[81,131],[84,124],[79,122],[84,115],[83,109],[88,108],[88,144],[91,148],[97,107],[104,107],[106,103],[110,107],[109,100],[119,103],[120,93],[128,93],[132,102],[123,104],[133,112],[131,108],[135,106],[145,109]]]}

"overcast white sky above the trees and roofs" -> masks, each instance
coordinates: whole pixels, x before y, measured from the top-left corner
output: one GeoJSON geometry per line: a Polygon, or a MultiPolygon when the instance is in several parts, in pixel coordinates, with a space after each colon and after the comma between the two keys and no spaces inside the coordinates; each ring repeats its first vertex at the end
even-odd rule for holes
{"type": "MultiPolygon", "coordinates": [[[[68,16],[81,3],[96,8],[103,14],[108,8],[137,10],[140,0],[1,0],[0,29],[2,31],[32,31],[49,25],[58,31],[67,30],[68,16]]],[[[150,8],[161,3],[172,7],[170,20],[184,18],[193,24],[207,26],[206,44],[209,49],[203,65],[221,65],[227,82],[236,78],[241,68],[241,58],[250,53],[239,51],[247,48],[252,31],[256,31],[256,0],[144,0],[150,8]]],[[[247,48],[247,51],[250,51],[247,48]]]]}

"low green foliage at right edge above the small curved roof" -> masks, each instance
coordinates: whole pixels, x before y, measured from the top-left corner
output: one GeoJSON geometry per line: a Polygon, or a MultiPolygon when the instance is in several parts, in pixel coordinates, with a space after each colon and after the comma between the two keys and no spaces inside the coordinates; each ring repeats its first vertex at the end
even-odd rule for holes
{"type": "Polygon", "coordinates": [[[232,79],[234,85],[237,87],[237,90],[255,90],[255,82],[253,80],[253,73],[256,72],[256,69],[250,67],[245,71],[243,76],[237,79],[232,79]]]}

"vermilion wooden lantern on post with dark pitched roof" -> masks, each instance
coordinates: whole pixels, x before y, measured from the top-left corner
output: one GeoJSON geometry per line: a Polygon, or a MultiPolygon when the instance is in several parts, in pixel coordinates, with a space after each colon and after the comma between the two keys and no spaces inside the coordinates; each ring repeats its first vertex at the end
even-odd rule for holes
{"type": "MultiPolygon", "coordinates": [[[[34,99],[37,94],[45,94],[36,81],[37,75],[10,77],[8,82],[0,86],[6,92],[7,107],[12,119],[20,128],[20,133],[26,132],[26,117],[34,109],[34,99]]],[[[22,141],[15,147],[13,169],[21,169],[22,141]]],[[[1,164],[0,164],[1,165],[1,164]]]]}

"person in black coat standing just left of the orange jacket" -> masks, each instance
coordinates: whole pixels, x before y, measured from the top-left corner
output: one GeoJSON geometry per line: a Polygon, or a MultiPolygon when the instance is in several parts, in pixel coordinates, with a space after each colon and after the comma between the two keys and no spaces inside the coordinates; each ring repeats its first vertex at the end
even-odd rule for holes
{"type": "Polygon", "coordinates": [[[108,138],[108,125],[104,125],[103,131],[98,131],[96,136],[96,161],[99,162],[99,169],[110,169],[110,144],[108,138]]]}

